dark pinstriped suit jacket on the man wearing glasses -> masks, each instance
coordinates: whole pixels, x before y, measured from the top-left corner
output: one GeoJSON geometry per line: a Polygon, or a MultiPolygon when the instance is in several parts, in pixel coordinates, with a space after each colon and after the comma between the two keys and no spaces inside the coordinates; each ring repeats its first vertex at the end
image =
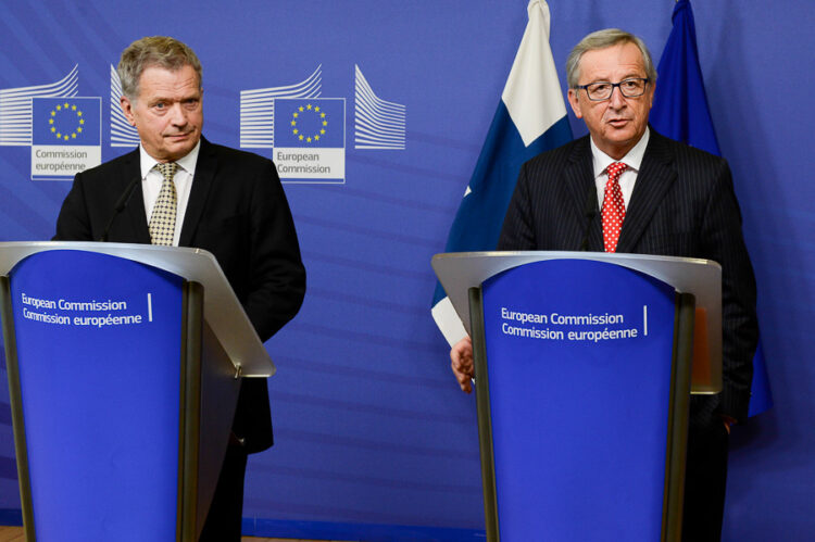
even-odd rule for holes
{"type": "MultiPolygon", "coordinates": [[[[498,248],[576,251],[587,228],[588,250],[602,252],[589,136],[524,164],[498,248]],[[589,224],[591,201],[595,213],[589,224]]],[[[745,419],[758,337],[755,279],[727,162],[651,128],[617,252],[722,264],[724,390],[692,399],[691,424],[709,424],[719,413],[745,419]]]]}

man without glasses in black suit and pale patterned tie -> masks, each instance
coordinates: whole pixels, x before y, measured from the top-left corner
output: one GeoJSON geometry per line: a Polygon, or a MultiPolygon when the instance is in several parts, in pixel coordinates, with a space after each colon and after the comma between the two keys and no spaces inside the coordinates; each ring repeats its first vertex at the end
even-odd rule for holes
{"type": "MultiPolygon", "coordinates": [[[[267,340],[297,314],[305,293],[297,234],[274,164],[201,136],[201,64],[180,41],[135,41],[122,53],[118,76],[122,110],[140,146],[76,176],[54,239],[106,235],[110,241],[208,250],[267,340]],[[125,207],[114,211],[128,187],[125,207]]],[[[246,379],[202,541],[240,540],[247,454],[271,445],[266,381],[246,379]]]]}

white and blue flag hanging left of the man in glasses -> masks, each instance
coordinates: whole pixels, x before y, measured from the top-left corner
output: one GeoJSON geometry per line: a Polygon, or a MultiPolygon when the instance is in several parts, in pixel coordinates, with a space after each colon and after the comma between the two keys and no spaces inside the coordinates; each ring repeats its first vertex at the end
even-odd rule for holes
{"type": "MultiPolygon", "coordinates": [[[[529,22],[475,172],[450,227],[446,252],[496,250],[521,166],[572,139],[549,45],[549,5],[543,0],[530,0],[527,13],[529,22]]],[[[439,283],[432,300],[432,317],[451,344],[464,337],[464,327],[439,283]]]]}

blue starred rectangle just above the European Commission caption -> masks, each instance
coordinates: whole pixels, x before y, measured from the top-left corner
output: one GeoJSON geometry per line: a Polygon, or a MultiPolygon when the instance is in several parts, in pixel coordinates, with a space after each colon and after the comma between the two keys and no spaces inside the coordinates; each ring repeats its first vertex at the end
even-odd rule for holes
{"type": "Polygon", "coordinates": [[[346,100],[342,98],[275,99],[275,147],[344,148],[346,100]]]}

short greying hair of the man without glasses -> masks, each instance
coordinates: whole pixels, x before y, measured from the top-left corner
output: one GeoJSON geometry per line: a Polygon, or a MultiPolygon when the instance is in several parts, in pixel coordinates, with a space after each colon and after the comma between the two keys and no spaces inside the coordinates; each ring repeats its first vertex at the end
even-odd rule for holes
{"type": "Polygon", "coordinates": [[[191,66],[198,74],[201,88],[201,63],[196,53],[175,38],[150,36],[137,39],[122,52],[116,73],[122,84],[122,93],[130,100],[139,97],[139,79],[148,67],[163,67],[176,72],[191,66]]]}

